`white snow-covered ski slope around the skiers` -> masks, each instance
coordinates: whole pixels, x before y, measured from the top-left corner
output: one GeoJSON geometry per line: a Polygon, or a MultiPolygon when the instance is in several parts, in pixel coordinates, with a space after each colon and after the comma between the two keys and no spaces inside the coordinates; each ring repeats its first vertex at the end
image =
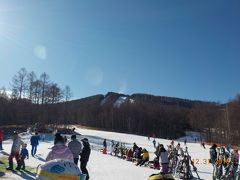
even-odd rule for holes
{"type": "MultiPolygon", "coordinates": [[[[148,176],[154,173],[158,173],[158,170],[150,169],[148,167],[138,167],[135,166],[132,162],[122,160],[120,158],[104,155],[98,151],[102,147],[102,142],[104,139],[107,139],[108,146],[110,145],[110,140],[119,141],[126,143],[127,147],[132,147],[133,142],[138,146],[146,148],[150,152],[150,160],[154,158],[153,152],[155,151],[151,141],[147,137],[137,136],[131,134],[115,133],[115,132],[106,132],[106,131],[97,131],[83,128],[76,128],[75,130],[78,135],[77,138],[87,137],[92,147],[92,152],[90,155],[90,160],[88,163],[88,170],[90,173],[90,178],[92,180],[147,180],[148,176]]],[[[28,144],[28,150],[30,152],[30,134],[21,135],[23,140],[28,144]]],[[[70,140],[70,135],[67,135],[68,140],[70,140]]],[[[43,164],[44,160],[50,151],[50,148],[53,146],[53,136],[46,136],[45,142],[40,142],[38,146],[38,152],[36,157],[31,157],[25,161],[27,166],[37,167],[39,164],[43,164]]],[[[166,145],[170,144],[169,140],[165,139],[156,139],[157,143],[166,145]]],[[[11,140],[4,141],[4,151],[0,152],[0,156],[5,153],[9,153],[11,149],[11,140]]],[[[177,143],[177,141],[175,141],[177,143]]],[[[183,146],[183,143],[180,142],[183,146]]],[[[209,158],[209,146],[206,146],[206,149],[203,149],[198,143],[187,143],[189,154],[193,159],[198,161],[196,164],[199,175],[201,179],[211,179],[212,166],[211,164],[204,164],[205,160],[209,158]]],[[[193,175],[196,176],[193,172],[193,175]]],[[[12,174],[7,173],[6,178],[11,179],[34,179],[32,174],[12,174]]]]}

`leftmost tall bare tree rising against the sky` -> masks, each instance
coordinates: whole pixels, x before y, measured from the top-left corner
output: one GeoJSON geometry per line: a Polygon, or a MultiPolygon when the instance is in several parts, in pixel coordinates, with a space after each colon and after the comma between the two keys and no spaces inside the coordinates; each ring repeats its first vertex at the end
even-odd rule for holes
{"type": "Polygon", "coordinates": [[[27,90],[27,70],[21,68],[12,79],[12,95],[15,98],[22,99],[27,90]]]}

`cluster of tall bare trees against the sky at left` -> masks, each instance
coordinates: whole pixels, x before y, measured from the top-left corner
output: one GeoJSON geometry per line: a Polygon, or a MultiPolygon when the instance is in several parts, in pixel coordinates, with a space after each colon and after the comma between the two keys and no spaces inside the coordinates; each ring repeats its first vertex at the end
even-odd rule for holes
{"type": "Polygon", "coordinates": [[[45,72],[37,77],[34,71],[28,72],[21,68],[10,83],[10,96],[6,88],[0,89],[0,97],[10,99],[27,99],[34,104],[54,104],[60,101],[69,101],[72,97],[71,89],[66,85],[63,89],[50,80],[45,72]]]}

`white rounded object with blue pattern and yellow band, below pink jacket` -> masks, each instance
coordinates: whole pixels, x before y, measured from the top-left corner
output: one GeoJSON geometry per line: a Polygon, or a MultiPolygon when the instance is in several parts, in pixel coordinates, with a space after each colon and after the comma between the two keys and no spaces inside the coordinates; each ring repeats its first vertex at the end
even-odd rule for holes
{"type": "Polygon", "coordinates": [[[55,159],[38,166],[36,180],[85,180],[85,177],[73,162],[55,159]]]}

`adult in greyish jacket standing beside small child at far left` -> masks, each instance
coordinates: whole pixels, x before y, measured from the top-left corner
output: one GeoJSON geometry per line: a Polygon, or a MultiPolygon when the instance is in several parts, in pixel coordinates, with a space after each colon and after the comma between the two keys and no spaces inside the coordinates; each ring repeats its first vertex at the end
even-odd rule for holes
{"type": "Polygon", "coordinates": [[[11,148],[11,153],[8,157],[9,160],[9,167],[7,167],[7,170],[13,170],[13,158],[15,157],[17,161],[17,168],[16,170],[20,170],[21,161],[20,161],[20,148],[24,145],[24,142],[21,140],[21,138],[18,136],[18,133],[14,131],[13,133],[13,144],[11,148]]]}

